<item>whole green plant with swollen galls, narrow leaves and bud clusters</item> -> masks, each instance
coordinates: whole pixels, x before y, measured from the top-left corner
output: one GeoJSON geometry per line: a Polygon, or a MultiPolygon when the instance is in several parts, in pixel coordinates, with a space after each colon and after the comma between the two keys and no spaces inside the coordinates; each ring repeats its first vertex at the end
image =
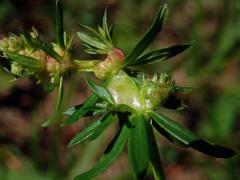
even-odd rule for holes
{"type": "Polygon", "coordinates": [[[190,46],[174,45],[143,54],[165,23],[167,5],[160,8],[148,31],[127,56],[112,41],[113,26],[109,27],[107,23],[107,11],[104,13],[103,25],[97,31],[83,26],[89,33],[78,32],[78,37],[86,47],[86,53],[105,55],[104,60],[82,60],[71,56],[73,39],[67,38],[63,31],[63,13],[59,1],[56,2],[56,10],[57,43],[53,43],[52,47],[42,42],[33,29],[32,33],[23,31],[20,37],[10,35],[2,39],[0,49],[12,61],[11,73],[17,77],[34,77],[43,83],[46,90],[59,87],[56,111],[43,126],[53,123],[59,111],[65,75],[73,71],[94,72],[98,79],[103,80],[102,85],[86,80],[93,94],[83,104],[64,112],[69,117],[63,125],[73,124],[84,116],[102,115],[102,118],[79,132],[70,141],[69,147],[87,138],[97,138],[114,121],[118,121],[119,131],[100,161],[75,179],[92,179],[103,172],[121,153],[126,143],[135,178],[143,178],[151,165],[155,179],[165,179],[154,129],[172,142],[217,158],[229,158],[235,154],[228,148],[198,138],[182,125],[157,112],[161,107],[181,108],[181,100],[174,93],[191,90],[190,87],[177,86],[168,73],[149,75],[131,69],[136,65],[168,60],[190,46]]]}

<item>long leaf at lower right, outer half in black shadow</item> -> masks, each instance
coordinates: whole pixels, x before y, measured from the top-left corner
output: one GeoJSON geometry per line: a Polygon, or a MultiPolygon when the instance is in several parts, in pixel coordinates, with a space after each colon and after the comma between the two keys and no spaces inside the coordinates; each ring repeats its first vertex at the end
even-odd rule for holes
{"type": "Polygon", "coordinates": [[[148,114],[173,139],[177,140],[178,142],[182,143],[187,147],[192,147],[199,152],[217,158],[229,158],[235,155],[235,152],[229,148],[222,147],[216,144],[211,144],[207,141],[199,139],[193,132],[184,128],[177,122],[172,121],[166,116],[157,114],[153,111],[148,112],[148,114]]]}

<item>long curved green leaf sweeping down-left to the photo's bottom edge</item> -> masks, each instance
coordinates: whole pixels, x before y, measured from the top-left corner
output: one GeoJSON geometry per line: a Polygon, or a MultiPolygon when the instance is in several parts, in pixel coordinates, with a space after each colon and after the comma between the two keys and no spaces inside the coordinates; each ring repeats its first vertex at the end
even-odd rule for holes
{"type": "Polygon", "coordinates": [[[103,157],[99,160],[99,162],[94,167],[92,167],[92,169],[76,176],[74,180],[90,180],[95,176],[99,175],[100,173],[104,172],[122,152],[128,136],[129,128],[123,126],[123,128],[120,130],[120,134],[117,140],[112,146],[112,149],[107,154],[104,154],[103,157]]]}

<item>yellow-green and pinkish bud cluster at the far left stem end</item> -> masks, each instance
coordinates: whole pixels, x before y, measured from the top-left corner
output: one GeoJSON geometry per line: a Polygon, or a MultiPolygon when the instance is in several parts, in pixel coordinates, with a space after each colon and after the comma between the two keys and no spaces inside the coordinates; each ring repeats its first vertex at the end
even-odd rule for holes
{"type": "MultiPolygon", "coordinates": [[[[39,38],[35,29],[29,35],[33,40],[39,38]]],[[[43,83],[44,87],[51,87],[47,88],[48,90],[58,85],[60,76],[73,66],[67,51],[54,43],[52,43],[52,49],[63,59],[63,62],[59,62],[43,49],[30,44],[23,34],[20,36],[10,34],[9,37],[0,40],[0,51],[5,58],[9,59],[11,73],[17,77],[34,77],[38,83],[43,83]],[[23,63],[21,58],[29,61],[26,60],[26,63],[23,63]]]]}

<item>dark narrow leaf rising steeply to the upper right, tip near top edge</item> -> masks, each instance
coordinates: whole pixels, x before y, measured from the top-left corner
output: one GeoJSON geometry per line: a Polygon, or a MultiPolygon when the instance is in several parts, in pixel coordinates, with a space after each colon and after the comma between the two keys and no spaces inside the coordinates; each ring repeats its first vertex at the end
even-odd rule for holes
{"type": "Polygon", "coordinates": [[[126,57],[125,61],[122,64],[122,67],[125,67],[129,64],[134,64],[136,58],[138,58],[145,49],[152,43],[157,34],[162,30],[163,24],[165,22],[166,16],[168,13],[167,5],[162,6],[153,22],[153,24],[148,29],[147,33],[139,41],[139,43],[134,47],[132,52],[126,57]]]}

